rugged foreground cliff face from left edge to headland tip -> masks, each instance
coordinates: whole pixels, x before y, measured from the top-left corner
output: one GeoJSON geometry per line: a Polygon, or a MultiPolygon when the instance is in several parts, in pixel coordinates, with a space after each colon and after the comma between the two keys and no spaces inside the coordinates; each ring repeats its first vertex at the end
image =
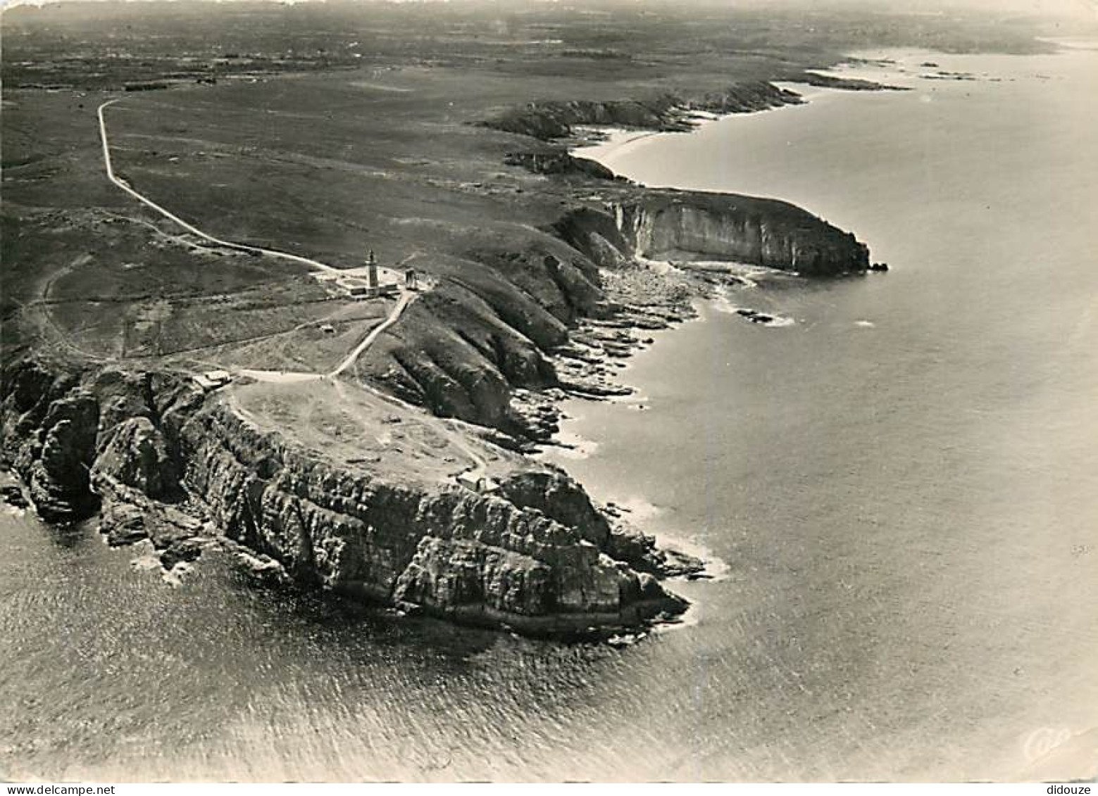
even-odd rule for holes
{"type": "Polygon", "coordinates": [[[166,564],[198,556],[205,520],[300,582],[460,621],[575,631],[685,606],[610,554],[657,560],[651,540],[615,546],[554,470],[518,471],[488,494],[402,481],[333,463],[170,374],[24,360],[0,394],[5,459],[42,515],[99,508],[113,542],[148,537],[166,564]]]}

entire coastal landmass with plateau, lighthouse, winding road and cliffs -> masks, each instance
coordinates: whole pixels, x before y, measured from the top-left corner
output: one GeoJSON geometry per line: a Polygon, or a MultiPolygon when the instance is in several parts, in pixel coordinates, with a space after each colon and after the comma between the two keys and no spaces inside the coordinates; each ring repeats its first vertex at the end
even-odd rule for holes
{"type": "MultiPolygon", "coordinates": [[[[658,24],[539,9],[515,13],[500,49],[458,12],[332,4],[315,13],[352,19],[354,44],[287,56],[264,25],[304,12],[248,5],[181,10],[202,15],[186,34],[142,18],[121,61],[102,55],[107,23],[69,7],[4,12],[0,456],[40,516],[98,517],[168,570],[227,539],[257,578],[519,632],[681,614],[663,582],[704,562],[527,456],[551,442],[554,402],[620,394],[613,360],[736,284],[714,261],[806,279],[883,267],[807,210],[645,188],[570,149],[589,127],[688,131],[800,102],[777,81],[888,88],[819,74],[874,34],[793,29],[760,55],[732,46],[735,26],[692,29],[703,57],[679,48],[670,7],[658,24]],[[401,44],[391,22],[438,37],[401,44]],[[229,32],[211,45],[213,24],[229,32]],[[88,68],[53,59],[66,25],[88,36],[88,68]],[[559,44],[539,43],[546,25],[559,44]],[[142,52],[161,27],[178,60],[142,52]],[[624,49],[637,31],[658,36],[624,49]],[[388,292],[376,270],[367,293],[338,273],[361,278],[368,249],[388,292]],[[406,273],[417,287],[396,287],[406,273]]],[[[1041,46],[959,30],[912,44],[1041,46]]]]}

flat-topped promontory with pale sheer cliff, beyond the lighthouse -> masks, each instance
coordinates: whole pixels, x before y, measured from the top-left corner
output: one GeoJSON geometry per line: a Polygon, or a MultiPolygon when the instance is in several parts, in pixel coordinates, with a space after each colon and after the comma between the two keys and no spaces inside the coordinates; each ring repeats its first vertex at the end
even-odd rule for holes
{"type": "Polygon", "coordinates": [[[568,216],[557,229],[606,267],[636,255],[731,260],[817,277],[870,266],[869,248],[852,234],[787,202],[736,194],[646,191],[606,213],[568,216]]]}

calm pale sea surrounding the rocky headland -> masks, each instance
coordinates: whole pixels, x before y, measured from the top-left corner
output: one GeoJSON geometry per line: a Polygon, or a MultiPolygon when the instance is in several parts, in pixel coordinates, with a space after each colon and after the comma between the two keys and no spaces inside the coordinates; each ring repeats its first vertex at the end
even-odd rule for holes
{"type": "Polygon", "coordinates": [[[624,649],[516,639],[258,591],[219,556],[171,586],[92,529],[9,512],[2,773],[1093,771],[1098,52],[893,57],[915,91],[815,91],[601,156],[797,202],[893,267],[730,293],[630,362],[640,404],[568,405],[597,447],[560,462],[726,564],[677,585],[687,627],[624,649]],[[927,59],[988,79],[920,79],[927,59]]]}

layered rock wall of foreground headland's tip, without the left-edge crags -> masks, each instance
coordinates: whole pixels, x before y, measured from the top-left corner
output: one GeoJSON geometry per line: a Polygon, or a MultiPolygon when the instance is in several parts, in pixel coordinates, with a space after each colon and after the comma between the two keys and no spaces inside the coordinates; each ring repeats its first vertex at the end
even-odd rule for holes
{"type": "MultiPolygon", "coordinates": [[[[552,516],[507,489],[336,468],[224,404],[195,415],[183,438],[188,481],[213,522],[324,588],[528,631],[628,625],[683,606],[608,554],[596,515],[552,516]]],[[[530,478],[587,501],[562,474],[530,478]]]]}

